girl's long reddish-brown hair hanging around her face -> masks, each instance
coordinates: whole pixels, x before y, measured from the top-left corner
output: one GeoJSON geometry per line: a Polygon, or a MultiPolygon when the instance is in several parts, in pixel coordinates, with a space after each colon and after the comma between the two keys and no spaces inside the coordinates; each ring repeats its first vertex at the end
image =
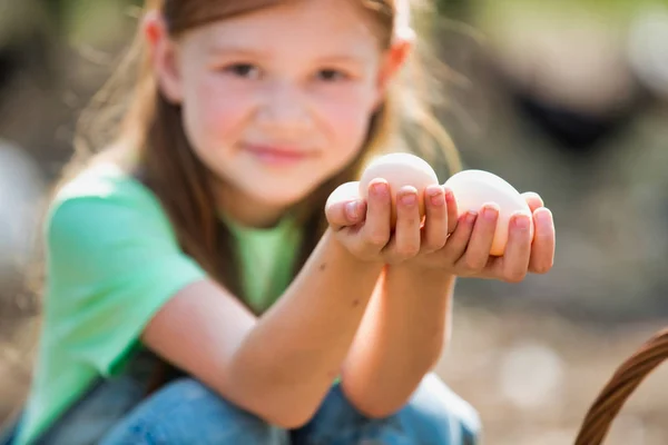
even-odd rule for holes
{"type": "MultiPolygon", "coordinates": [[[[146,10],[160,10],[168,32],[177,38],[193,28],[245,14],[258,9],[297,0],[148,0],[146,10]]],[[[375,20],[381,43],[387,48],[394,34],[394,0],[361,0],[370,17],[375,20]]],[[[109,83],[94,98],[91,107],[84,113],[80,132],[76,140],[76,156],[63,180],[76,175],[91,161],[111,157],[127,166],[158,197],[169,216],[179,244],[209,275],[239,299],[244,293],[239,285],[239,270],[234,261],[233,238],[217,218],[214,197],[207,178],[209,172],[195,156],[181,125],[180,109],[169,102],[156,86],[138,33],[120,68],[109,83]],[[107,147],[91,156],[90,147],[107,147]]],[[[418,71],[406,71],[416,75],[418,71]]],[[[420,81],[412,80],[414,85],[420,81]]],[[[433,92],[433,91],[432,91],[433,92]]],[[[402,90],[402,95],[405,90],[402,90]]],[[[391,95],[392,96],[392,95],[391,95]]],[[[414,97],[414,96],[413,96],[414,97]]],[[[331,178],[296,208],[304,233],[296,271],[303,266],[315,244],[322,236],[326,221],[324,205],[334,188],[345,181],[355,180],[369,155],[389,145],[397,136],[397,129],[407,126],[421,128],[432,135],[432,148],[415,145],[413,151],[424,158],[445,154],[451,168],[459,168],[459,158],[448,135],[438,125],[424,103],[414,101],[409,107],[419,126],[407,120],[397,121],[394,112],[395,98],[385,103],[371,117],[367,137],[358,156],[336,177],[331,178]],[[435,151],[434,146],[444,150],[435,151]]],[[[423,141],[424,142],[424,141],[423,141]]]]}

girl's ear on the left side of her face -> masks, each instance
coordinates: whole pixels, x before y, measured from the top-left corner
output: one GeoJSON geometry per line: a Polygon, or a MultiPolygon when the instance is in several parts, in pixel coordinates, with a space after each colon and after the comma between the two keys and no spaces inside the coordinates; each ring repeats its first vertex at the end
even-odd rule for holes
{"type": "Polygon", "coordinates": [[[146,39],[150,63],[156,75],[158,88],[165,97],[174,102],[183,100],[178,52],[174,40],[167,32],[167,24],[158,11],[148,12],[143,21],[144,38],[146,39]]]}

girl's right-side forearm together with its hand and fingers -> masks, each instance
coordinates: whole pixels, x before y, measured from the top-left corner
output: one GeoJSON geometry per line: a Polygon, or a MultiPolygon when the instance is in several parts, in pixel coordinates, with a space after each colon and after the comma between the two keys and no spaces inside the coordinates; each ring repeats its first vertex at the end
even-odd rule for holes
{"type": "MultiPolygon", "coordinates": [[[[432,231],[428,206],[425,239],[429,241],[432,233],[453,233],[443,248],[422,256],[422,260],[419,256],[387,267],[379,284],[344,363],[343,387],[360,411],[373,417],[395,412],[433,367],[450,334],[454,276],[518,283],[528,271],[546,273],[551,268],[554,254],[551,214],[539,197],[529,194],[527,200],[534,217],[536,237],[532,240],[528,226],[513,218],[504,257],[489,257],[497,211],[458,221],[456,207],[450,197],[448,211],[453,215],[448,220],[456,221],[456,227],[445,231],[435,224],[432,231]]],[[[431,211],[436,219],[438,210],[431,211]]]]}

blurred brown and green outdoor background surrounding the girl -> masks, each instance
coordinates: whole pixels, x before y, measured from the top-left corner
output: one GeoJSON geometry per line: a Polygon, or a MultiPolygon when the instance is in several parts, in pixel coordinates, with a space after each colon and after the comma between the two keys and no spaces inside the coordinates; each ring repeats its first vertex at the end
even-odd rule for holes
{"type": "MultiPolygon", "coordinates": [[[[28,283],[47,194],[138,4],[0,0],[0,422],[30,380],[40,301],[28,283]]],[[[439,372],[480,411],[484,443],[572,443],[617,366],[668,326],[668,4],[438,7],[440,118],[465,167],[541,194],[558,233],[549,275],[459,281],[439,372]]],[[[607,443],[668,443],[666,378],[659,368],[645,382],[607,443]]]]}

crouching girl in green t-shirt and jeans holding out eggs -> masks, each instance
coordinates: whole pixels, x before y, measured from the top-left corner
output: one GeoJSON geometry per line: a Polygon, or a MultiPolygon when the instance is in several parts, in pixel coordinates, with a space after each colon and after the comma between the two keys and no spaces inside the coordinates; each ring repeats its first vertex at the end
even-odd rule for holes
{"type": "Polygon", "coordinates": [[[490,259],[494,205],[458,221],[431,187],[421,227],[414,188],[345,198],[399,125],[405,2],[149,2],[119,137],[50,208],[13,444],[474,443],[430,374],[455,276],[547,271],[554,231],[528,195],[534,239],[515,217],[490,259]]]}

